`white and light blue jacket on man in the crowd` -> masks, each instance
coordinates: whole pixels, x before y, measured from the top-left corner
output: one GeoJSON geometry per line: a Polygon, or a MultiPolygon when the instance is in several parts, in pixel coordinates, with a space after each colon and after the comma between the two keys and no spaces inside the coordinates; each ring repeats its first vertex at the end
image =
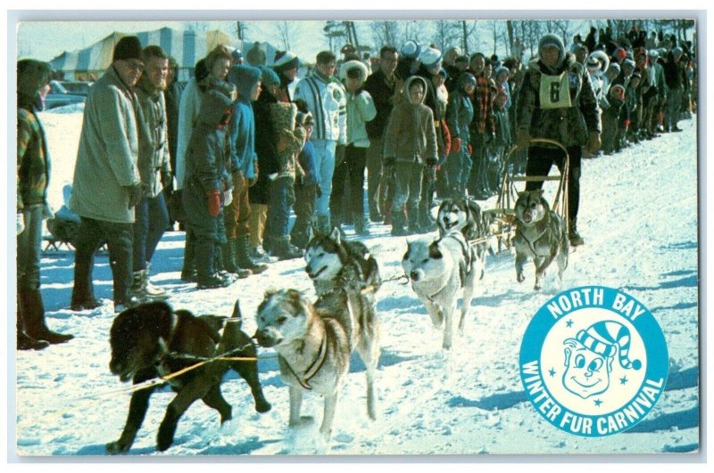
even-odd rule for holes
{"type": "Polygon", "coordinates": [[[347,93],[337,79],[325,82],[313,72],[295,87],[294,100],[302,99],[315,118],[314,140],[347,143],[347,93]]]}

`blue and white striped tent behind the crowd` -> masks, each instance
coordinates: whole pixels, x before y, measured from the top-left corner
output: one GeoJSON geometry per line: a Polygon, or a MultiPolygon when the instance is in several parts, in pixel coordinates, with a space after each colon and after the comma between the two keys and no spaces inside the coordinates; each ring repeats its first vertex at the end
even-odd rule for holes
{"type": "MultiPolygon", "coordinates": [[[[160,45],[166,53],[179,63],[179,80],[186,81],[193,75],[196,61],[205,57],[217,45],[226,45],[230,49],[253,47],[252,41],[231,41],[226,33],[215,29],[204,35],[199,35],[193,30],[179,31],[168,27],[145,31],[141,33],[113,32],[108,37],[97,41],[94,45],[74,52],[64,52],[50,61],[54,71],[62,73],[65,80],[95,80],[104,73],[112,64],[114,46],[121,37],[136,35],[142,46],[160,45]]],[[[260,46],[272,63],[275,48],[268,43],[260,46]]]]}

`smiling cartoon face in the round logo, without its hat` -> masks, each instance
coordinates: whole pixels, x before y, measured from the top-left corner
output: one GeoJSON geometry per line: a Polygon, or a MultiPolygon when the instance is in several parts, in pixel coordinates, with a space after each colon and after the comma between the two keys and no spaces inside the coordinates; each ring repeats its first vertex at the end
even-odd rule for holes
{"type": "Polygon", "coordinates": [[[612,357],[605,358],[591,352],[575,338],[567,339],[564,345],[563,386],[583,399],[607,391],[610,387],[612,357]]]}

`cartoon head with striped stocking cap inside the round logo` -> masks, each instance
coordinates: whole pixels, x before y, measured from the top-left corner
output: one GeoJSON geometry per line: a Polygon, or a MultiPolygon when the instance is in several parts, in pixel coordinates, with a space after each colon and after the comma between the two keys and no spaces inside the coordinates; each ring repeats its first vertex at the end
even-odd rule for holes
{"type": "Polygon", "coordinates": [[[563,345],[563,387],[583,399],[608,390],[615,355],[626,370],[642,367],[640,360],[629,359],[630,332],[619,322],[596,322],[578,331],[576,338],[567,338],[563,345]]]}

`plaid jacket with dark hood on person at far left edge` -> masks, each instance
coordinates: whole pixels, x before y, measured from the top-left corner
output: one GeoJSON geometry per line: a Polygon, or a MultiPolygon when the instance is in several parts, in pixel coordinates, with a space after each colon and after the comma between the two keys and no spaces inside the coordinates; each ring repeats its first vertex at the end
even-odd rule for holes
{"type": "Polygon", "coordinates": [[[28,60],[18,77],[17,94],[17,210],[46,203],[50,156],[42,122],[37,116],[37,94],[49,77],[46,62],[28,60]]]}

